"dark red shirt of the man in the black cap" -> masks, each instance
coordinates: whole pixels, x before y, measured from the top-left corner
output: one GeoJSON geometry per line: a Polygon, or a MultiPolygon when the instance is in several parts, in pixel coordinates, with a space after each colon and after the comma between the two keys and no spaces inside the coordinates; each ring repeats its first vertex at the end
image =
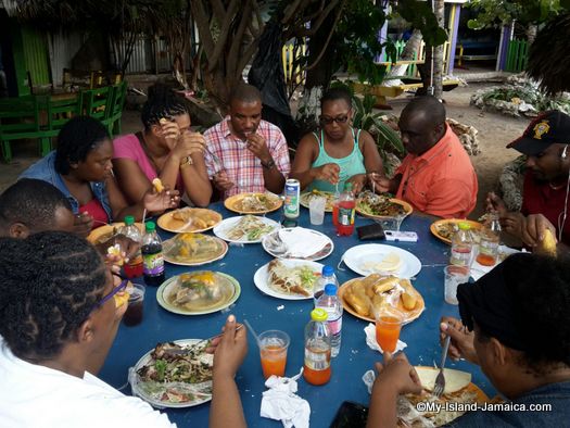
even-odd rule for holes
{"type": "MultiPolygon", "coordinates": [[[[561,223],[563,218],[565,199],[566,185],[560,189],[553,189],[548,182],[534,179],[530,171],[524,175],[520,211],[524,215],[542,214],[548,218],[548,222],[556,227],[556,238],[560,232],[558,221],[561,223]]],[[[566,219],[561,241],[570,244],[570,201],[567,211],[569,218],[566,219]]]]}

